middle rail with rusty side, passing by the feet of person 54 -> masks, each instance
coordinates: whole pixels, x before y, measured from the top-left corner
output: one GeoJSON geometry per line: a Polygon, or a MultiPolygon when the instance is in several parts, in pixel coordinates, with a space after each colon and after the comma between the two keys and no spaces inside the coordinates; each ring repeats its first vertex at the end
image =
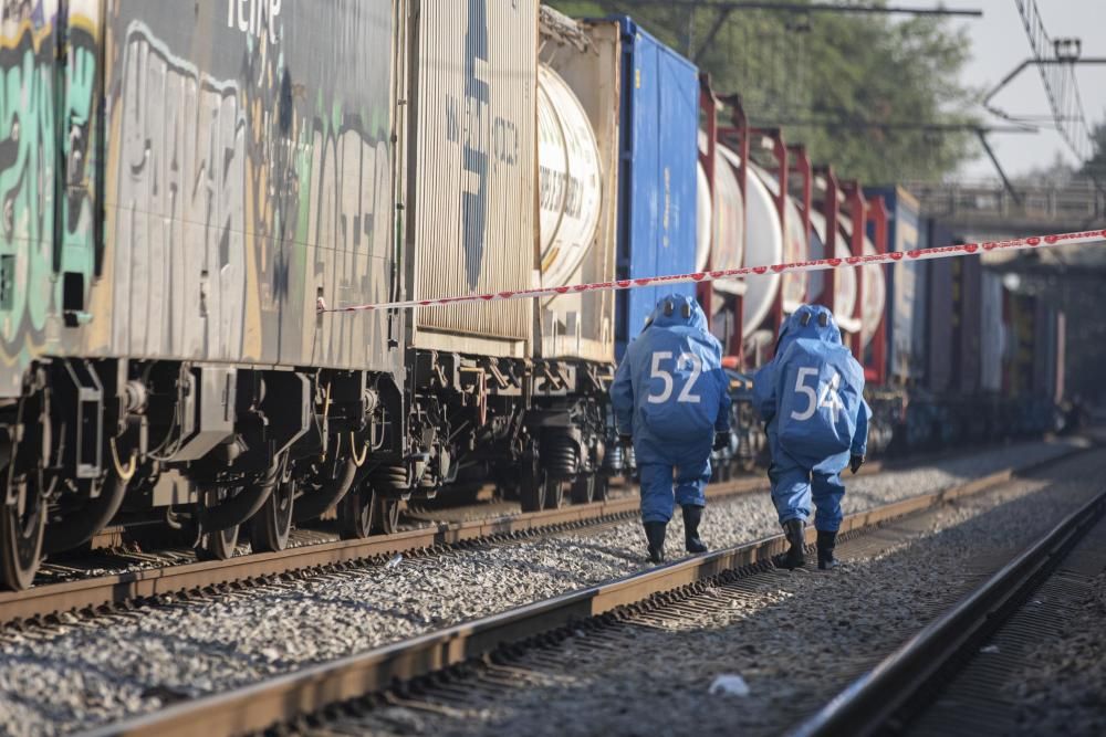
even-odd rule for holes
{"type": "MultiPolygon", "coordinates": [[[[929,509],[1047,466],[1074,453],[1019,468],[1006,468],[969,483],[849,515],[843,534],[929,509]]],[[[813,544],[815,530],[807,529],[813,544]]],[[[243,688],[170,706],[86,733],[105,735],[238,735],[268,729],[328,705],[387,688],[428,673],[480,657],[503,644],[605,614],[658,593],[696,583],[724,571],[763,562],[786,549],[782,535],[687,558],[647,571],[465,622],[362,654],[305,667],[243,688]]]]}

